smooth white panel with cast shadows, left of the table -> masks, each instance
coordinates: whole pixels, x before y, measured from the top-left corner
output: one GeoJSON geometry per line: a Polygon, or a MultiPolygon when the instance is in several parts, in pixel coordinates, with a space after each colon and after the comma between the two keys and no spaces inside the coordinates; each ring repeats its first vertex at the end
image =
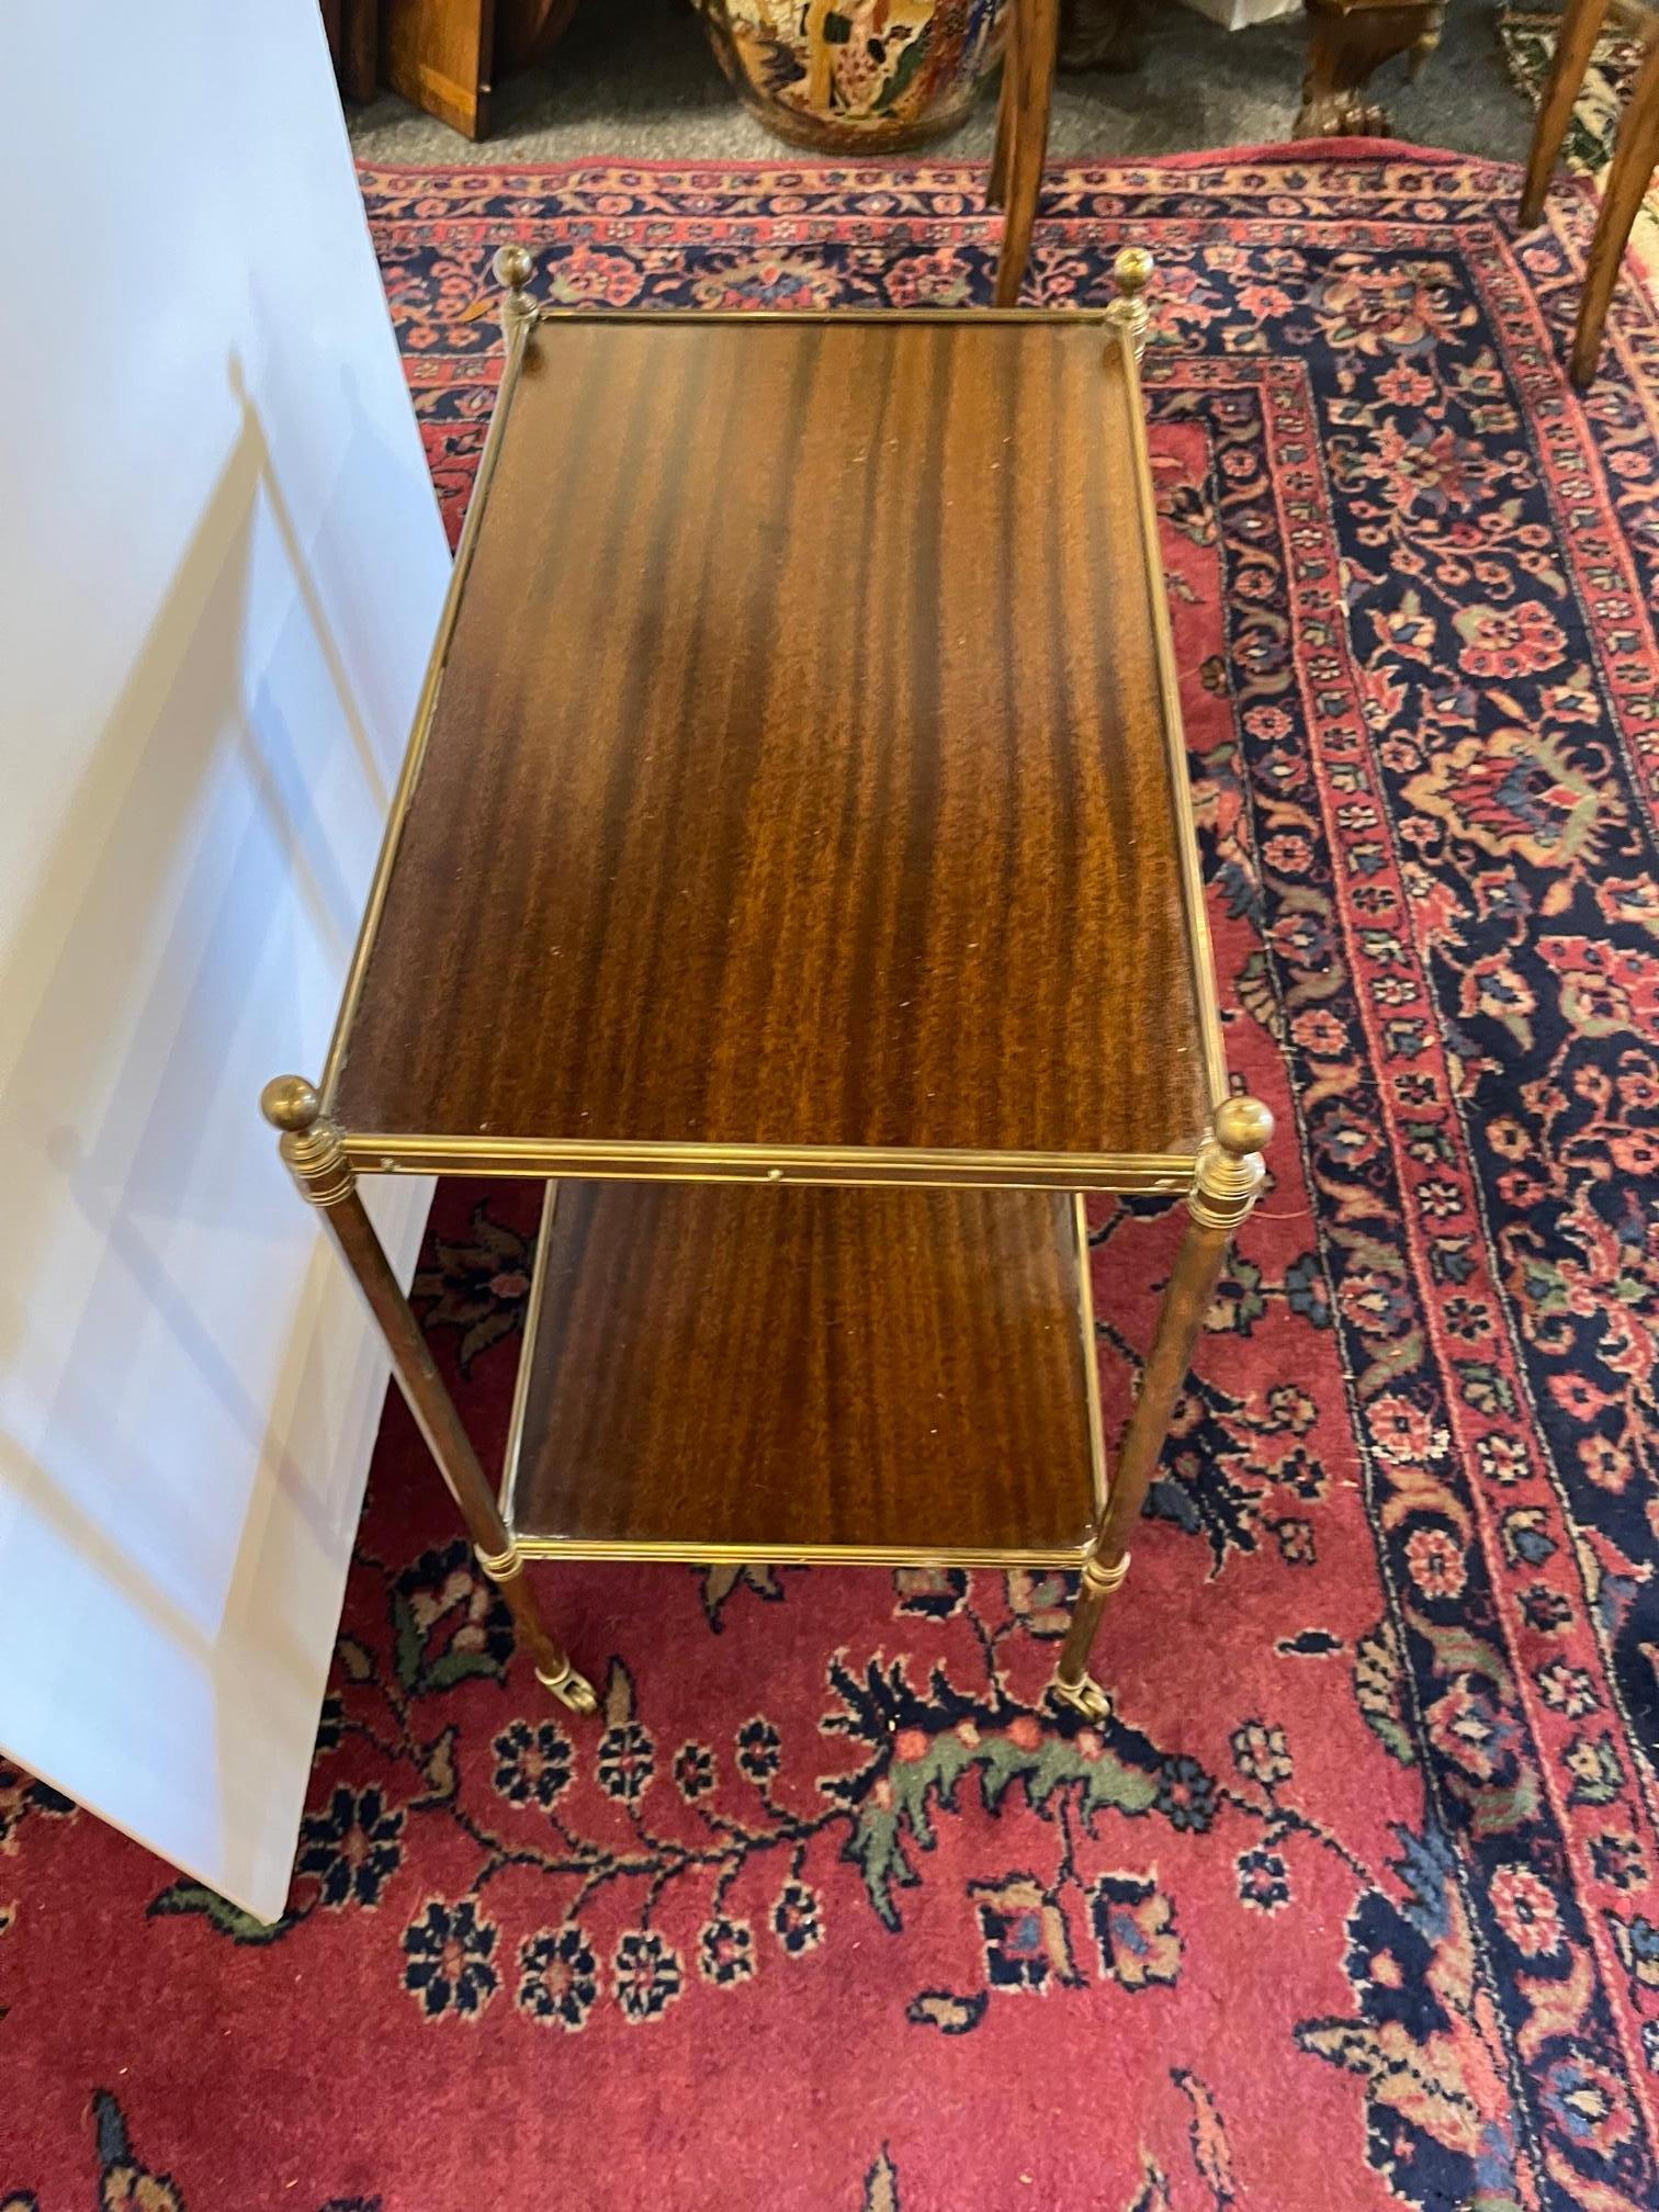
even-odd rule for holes
{"type": "Polygon", "coordinates": [[[385,1365],[257,1097],[321,1066],[447,553],[316,0],[7,62],[0,1745],[270,1918],[385,1365]]]}

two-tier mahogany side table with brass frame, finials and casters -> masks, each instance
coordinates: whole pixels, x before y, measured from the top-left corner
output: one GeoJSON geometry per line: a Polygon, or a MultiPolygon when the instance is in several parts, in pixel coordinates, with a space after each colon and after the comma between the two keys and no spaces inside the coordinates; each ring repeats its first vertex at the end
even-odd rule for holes
{"type": "Polygon", "coordinates": [[[1137,361],[1079,314],[553,314],[507,363],[316,1088],[263,1095],[538,1677],[524,1562],[1082,1568],[1265,1106],[1228,1097],[1137,361]],[[358,1194],[549,1186],[504,1482],[358,1194]],[[1117,1471],[1084,1190],[1188,1192],[1117,1471]]]}

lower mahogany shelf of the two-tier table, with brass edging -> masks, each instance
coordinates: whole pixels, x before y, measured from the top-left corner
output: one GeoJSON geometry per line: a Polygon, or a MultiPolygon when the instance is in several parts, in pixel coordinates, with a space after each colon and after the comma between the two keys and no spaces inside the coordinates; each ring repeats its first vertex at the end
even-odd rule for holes
{"type": "Polygon", "coordinates": [[[1075,1564],[1082,1199],[551,1183],[502,1506],[529,1555],[1075,1564]]]}

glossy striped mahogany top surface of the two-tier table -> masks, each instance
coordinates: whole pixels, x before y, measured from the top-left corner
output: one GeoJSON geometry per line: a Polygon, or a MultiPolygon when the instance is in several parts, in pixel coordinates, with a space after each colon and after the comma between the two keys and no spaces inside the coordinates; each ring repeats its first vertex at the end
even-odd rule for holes
{"type": "Polygon", "coordinates": [[[1133,409],[1082,319],[540,325],[338,1119],[1190,1155],[1133,409]]]}

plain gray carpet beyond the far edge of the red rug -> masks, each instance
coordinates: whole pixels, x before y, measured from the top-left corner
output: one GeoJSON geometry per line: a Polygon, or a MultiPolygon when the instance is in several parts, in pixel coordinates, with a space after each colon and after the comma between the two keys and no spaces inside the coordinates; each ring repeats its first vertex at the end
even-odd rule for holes
{"type": "MultiPolygon", "coordinates": [[[[1179,0],[1144,0],[1146,60],[1133,75],[1062,77],[1051,150],[1157,155],[1250,146],[1290,135],[1305,66],[1301,15],[1221,31],[1179,0]]],[[[1495,0],[1451,0],[1447,35],[1416,84],[1405,62],[1371,80],[1398,137],[1517,161],[1533,126],[1498,53],[1495,0]]],[[[763,161],[783,155],[719,73],[697,20],[677,0],[584,0],[544,69],[504,84],[495,128],[471,148],[392,93],[352,111],[365,161],[763,161]]],[[[991,153],[991,102],[936,150],[991,153]]]]}

